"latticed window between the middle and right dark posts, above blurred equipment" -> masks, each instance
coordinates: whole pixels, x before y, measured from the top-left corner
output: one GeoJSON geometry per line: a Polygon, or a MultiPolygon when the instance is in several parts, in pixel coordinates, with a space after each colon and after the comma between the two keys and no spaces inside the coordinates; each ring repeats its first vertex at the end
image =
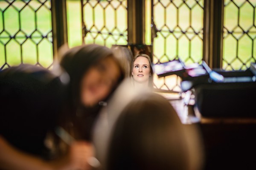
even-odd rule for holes
{"type": "MultiPolygon", "coordinates": [[[[203,58],[203,0],[154,0],[154,23],[158,30],[154,38],[153,62],[163,63],[180,58],[185,64],[201,62],[203,58]]],[[[180,91],[176,75],[158,79],[157,88],[180,91]]]]}

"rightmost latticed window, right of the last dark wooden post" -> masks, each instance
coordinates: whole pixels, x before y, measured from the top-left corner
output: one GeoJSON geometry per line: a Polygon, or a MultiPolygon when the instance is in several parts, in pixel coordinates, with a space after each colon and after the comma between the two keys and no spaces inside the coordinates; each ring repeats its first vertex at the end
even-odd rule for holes
{"type": "Polygon", "coordinates": [[[252,0],[225,0],[223,69],[246,70],[255,55],[255,6],[252,0]]]}

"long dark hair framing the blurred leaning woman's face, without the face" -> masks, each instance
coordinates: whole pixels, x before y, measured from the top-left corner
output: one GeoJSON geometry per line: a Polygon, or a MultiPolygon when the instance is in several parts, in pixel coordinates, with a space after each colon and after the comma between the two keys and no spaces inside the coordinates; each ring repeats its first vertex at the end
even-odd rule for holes
{"type": "MultiPolygon", "coordinates": [[[[119,67],[121,76],[118,79],[116,87],[123,80],[124,73],[122,72],[119,62],[113,56],[111,49],[105,46],[89,44],[80,45],[70,49],[63,48],[61,50],[62,55],[59,56],[60,66],[67,72],[67,74],[69,74],[70,77],[67,100],[67,107],[69,107],[69,111],[66,111],[66,118],[64,119],[67,119],[67,121],[72,120],[73,124],[76,124],[73,127],[75,129],[75,133],[77,133],[74,135],[76,138],[90,140],[91,128],[102,106],[98,104],[88,107],[81,103],[80,84],[84,74],[90,67],[96,65],[99,60],[104,59],[105,57],[112,57],[116,62],[116,65],[119,67]]],[[[108,98],[111,97],[116,87],[112,89],[111,93],[103,99],[103,101],[107,101],[108,98]]],[[[67,121],[64,120],[63,122],[67,121]]]]}

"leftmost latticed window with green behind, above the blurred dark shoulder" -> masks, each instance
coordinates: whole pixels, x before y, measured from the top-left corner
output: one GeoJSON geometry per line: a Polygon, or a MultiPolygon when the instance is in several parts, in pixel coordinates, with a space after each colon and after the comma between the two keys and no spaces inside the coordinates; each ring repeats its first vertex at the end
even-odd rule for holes
{"type": "Polygon", "coordinates": [[[0,1],[0,69],[52,65],[51,1],[0,1]]]}

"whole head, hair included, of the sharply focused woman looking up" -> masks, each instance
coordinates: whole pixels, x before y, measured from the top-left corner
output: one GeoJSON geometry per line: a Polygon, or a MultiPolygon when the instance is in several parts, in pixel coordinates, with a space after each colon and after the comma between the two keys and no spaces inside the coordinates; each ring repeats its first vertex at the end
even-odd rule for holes
{"type": "Polygon", "coordinates": [[[134,57],[131,75],[135,86],[151,86],[153,69],[151,67],[151,59],[148,55],[138,54],[134,57]]]}

